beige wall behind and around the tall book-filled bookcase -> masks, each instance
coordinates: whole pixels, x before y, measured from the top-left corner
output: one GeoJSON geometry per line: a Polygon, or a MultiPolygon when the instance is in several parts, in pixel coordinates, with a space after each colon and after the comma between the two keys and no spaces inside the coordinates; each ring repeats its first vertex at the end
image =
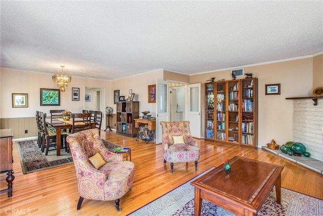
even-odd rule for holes
{"type": "MultiPolygon", "coordinates": [[[[253,77],[258,78],[258,146],[270,143],[272,139],[278,144],[293,140],[293,101],[285,98],[312,95],[312,64],[313,59],[306,58],[244,67],[245,73],[252,73],[253,77]],[[275,83],[281,83],[281,95],[265,95],[265,84],[275,83]]],[[[222,78],[231,80],[230,74],[231,70],[224,70],[192,75],[190,83],[204,83],[211,77],[216,77],[216,81],[222,78]]],[[[204,91],[202,85],[202,109],[205,105],[204,91]]],[[[202,120],[203,136],[204,129],[202,120]]]]}

